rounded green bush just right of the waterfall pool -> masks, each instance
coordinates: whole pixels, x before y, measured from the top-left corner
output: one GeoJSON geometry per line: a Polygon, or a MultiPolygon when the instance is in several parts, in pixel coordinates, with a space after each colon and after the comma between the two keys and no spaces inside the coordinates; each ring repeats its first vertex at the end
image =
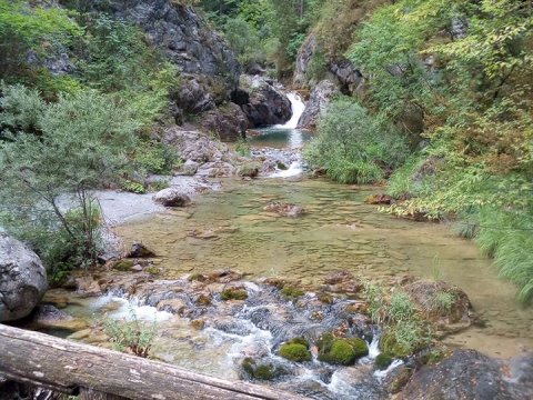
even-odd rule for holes
{"type": "Polygon", "coordinates": [[[348,98],[333,101],[304,157],[343,183],[371,183],[406,157],[404,138],[379,116],[348,98]],[[356,121],[354,123],[354,121],[356,121]]]}

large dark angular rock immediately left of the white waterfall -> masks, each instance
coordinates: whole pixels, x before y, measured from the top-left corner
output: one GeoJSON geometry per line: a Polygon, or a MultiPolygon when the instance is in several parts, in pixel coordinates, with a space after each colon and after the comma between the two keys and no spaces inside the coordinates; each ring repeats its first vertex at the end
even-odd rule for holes
{"type": "Polygon", "coordinates": [[[264,78],[243,76],[240,84],[239,94],[233,97],[241,102],[240,106],[248,117],[250,128],[284,123],[291,119],[291,101],[264,78]],[[243,102],[244,93],[249,97],[247,103],[243,102]]]}

